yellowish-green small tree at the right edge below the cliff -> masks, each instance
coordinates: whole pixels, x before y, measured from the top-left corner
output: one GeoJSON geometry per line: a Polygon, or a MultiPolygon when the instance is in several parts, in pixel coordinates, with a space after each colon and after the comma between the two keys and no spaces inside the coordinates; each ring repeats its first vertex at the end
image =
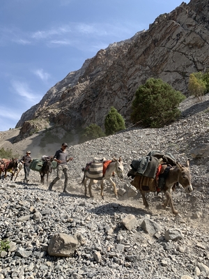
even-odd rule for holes
{"type": "Polygon", "coordinates": [[[199,101],[202,100],[202,96],[206,92],[207,79],[208,77],[205,75],[204,80],[204,75],[201,72],[189,75],[189,93],[194,95],[199,101]]]}

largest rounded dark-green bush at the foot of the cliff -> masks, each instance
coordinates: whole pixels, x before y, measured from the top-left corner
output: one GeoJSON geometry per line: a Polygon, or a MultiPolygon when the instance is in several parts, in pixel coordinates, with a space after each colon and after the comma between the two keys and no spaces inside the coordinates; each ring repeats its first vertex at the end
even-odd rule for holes
{"type": "Polygon", "coordinates": [[[180,116],[178,105],[186,97],[161,79],[151,77],[139,86],[132,102],[131,119],[150,128],[160,128],[180,116]]]}

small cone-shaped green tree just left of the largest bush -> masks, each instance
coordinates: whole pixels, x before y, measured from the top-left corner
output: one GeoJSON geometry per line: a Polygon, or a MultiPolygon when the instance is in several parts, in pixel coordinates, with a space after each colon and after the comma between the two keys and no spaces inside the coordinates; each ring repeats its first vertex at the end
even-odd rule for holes
{"type": "Polygon", "coordinates": [[[104,119],[104,128],[106,135],[114,135],[114,133],[125,129],[123,116],[114,107],[110,108],[104,119]]]}

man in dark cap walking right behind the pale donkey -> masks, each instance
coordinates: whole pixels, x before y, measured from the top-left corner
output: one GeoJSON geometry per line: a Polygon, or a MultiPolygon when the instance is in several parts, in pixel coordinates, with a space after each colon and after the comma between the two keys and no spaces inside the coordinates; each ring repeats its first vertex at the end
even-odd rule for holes
{"type": "Polygon", "coordinates": [[[54,160],[57,162],[57,174],[55,179],[49,184],[49,189],[48,189],[49,191],[52,191],[52,187],[54,186],[56,181],[59,181],[59,179],[61,179],[61,176],[64,173],[65,183],[64,183],[63,193],[68,193],[66,188],[68,186],[70,173],[69,173],[67,162],[69,162],[69,160],[72,160],[72,158],[70,157],[67,159],[67,152],[66,152],[67,146],[68,144],[66,144],[66,142],[63,142],[61,149],[57,150],[54,155],[54,160]]]}

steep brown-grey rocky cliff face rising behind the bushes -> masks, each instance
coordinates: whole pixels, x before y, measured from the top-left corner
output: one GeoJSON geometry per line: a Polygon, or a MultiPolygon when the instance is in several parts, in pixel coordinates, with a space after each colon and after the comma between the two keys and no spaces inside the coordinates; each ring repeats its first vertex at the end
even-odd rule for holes
{"type": "Polygon", "coordinates": [[[148,30],[87,59],[24,112],[16,128],[29,119],[47,119],[66,130],[90,123],[103,128],[111,105],[130,123],[134,93],[149,77],[161,78],[187,95],[189,74],[209,65],[208,38],[208,1],[183,2],[157,17],[148,30]]]}

